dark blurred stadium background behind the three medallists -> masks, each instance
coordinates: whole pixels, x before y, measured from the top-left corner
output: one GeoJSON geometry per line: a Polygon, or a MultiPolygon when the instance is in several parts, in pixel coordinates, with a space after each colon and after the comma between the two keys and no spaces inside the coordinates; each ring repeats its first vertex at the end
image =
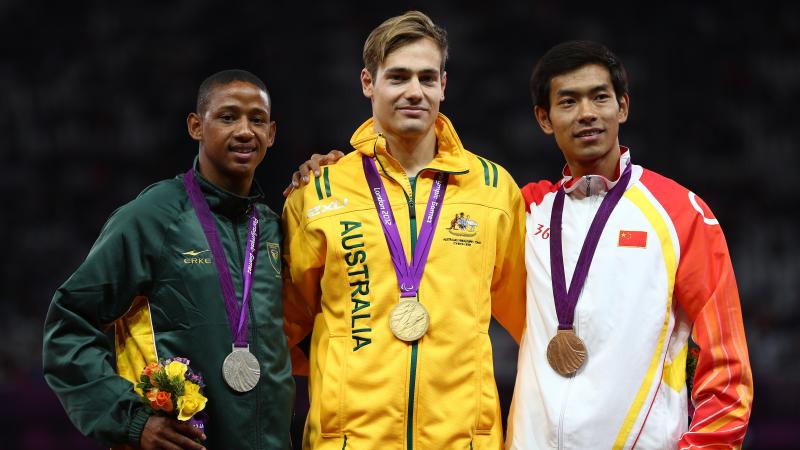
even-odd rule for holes
{"type": "MultiPolygon", "coordinates": [[[[796,448],[800,3],[3,0],[0,449],[102,448],[72,428],[43,381],[44,316],[109,214],[191,163],[185,118],[199,83],[226,68],[267,83],[278,134],[258,180],[280,211],[300,162],[349,150],[370,115],[358,82],[364,39],[408,9],[449,32],[442,111],[467,148],[520,184],[556,179],[563,165],[532,113],[537,58],[576,38],[622,58],[631,115],[621,143],[703,197],[726,232],[755,377],[745,448],[796,448]]],[[[505,409],[517,350],[492,334],[505,409]]]]}

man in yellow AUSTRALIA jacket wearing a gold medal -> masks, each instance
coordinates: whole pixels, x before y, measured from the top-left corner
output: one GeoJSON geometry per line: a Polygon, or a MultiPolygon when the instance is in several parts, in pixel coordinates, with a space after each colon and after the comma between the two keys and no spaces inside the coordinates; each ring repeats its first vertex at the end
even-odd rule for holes
{"type": "Polygon", "coordinates": [[[439,113],[447,38],[412,11],[364,45],[372,118],[283,211],[286,331],[309,332],[303,448],[500,449],[491,315],[519,340],[517,184],[439,113]]]}

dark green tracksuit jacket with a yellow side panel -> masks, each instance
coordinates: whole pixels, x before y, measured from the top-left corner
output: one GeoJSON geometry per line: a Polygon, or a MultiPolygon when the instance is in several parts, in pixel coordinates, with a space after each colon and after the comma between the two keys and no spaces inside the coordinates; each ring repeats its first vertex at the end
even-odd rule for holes
{"type": "Polygon", "coordinates": [[[239,197],[203,179],[196,166],[195,177],[240,302],[248,212],[252,205],[259,211],[248,308],[250,351],[261,364],[258,385],[237,393],[222,379],[233,341],[213,257],[182,175],[115,211],[86,260],[58,289],[44,327],[45,379],[82,433],[110,446],[138,444],[148,416],[132,381],[148,362],[186,357],[206,382],[207,448],[291,448],[294,381],[283,332],[279,218],[258,203],[256,186],[255,195],[239,197]]]}

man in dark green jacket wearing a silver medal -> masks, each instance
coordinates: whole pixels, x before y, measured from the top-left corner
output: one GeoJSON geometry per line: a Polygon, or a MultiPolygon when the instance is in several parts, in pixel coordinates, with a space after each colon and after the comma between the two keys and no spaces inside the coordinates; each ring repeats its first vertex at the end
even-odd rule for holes
{"type": "Polygon", "coordinates": [[[255,75],[206,79],[187,119],[194,167],[115,211],[53,297],[45,379],[82,433],[142,449],[291,447],[279,217],[253,182],[270,112],[255,75]],[[153,415],[134,390],[148,363],[175,357],[204,378],[204,431],[153,415]]]}

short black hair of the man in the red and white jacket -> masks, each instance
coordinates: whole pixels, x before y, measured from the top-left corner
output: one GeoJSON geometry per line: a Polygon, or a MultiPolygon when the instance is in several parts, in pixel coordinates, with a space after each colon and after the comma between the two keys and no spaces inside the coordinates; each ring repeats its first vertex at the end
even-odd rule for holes
{"type": "Polygon", "coordinates": [[[533,68],[530,85],[533,104],[550,111],[550,82],[553,78],[591,64],[608,70],[617,101],[628,93],[628,74],[617,55],[598,42],[567,41],[548,50],[533,68]]]}

